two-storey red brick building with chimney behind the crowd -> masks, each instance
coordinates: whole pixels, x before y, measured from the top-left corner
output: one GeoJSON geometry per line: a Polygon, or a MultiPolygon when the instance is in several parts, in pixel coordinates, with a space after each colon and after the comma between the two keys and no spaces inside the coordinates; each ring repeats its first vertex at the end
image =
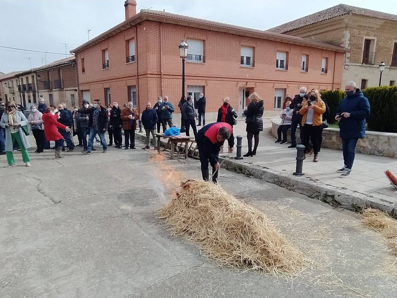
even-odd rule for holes
{"type": "Polygon", "coordinates": [[[81,99],[132,100],[142,111],[147,101],[168,95],[177,105],[181,40],[189,44],[186,95],[205,94],[209,121],[215,120],[225,96],[241,112],[255,91],[265,101],[265,114],[273,114],[283,97],[297,94],[301,86],[341,88],[345,49],[339,46],[168,12],[136,14],[134,0],[125,1],[125,17],[71,50],[81,99]]]}

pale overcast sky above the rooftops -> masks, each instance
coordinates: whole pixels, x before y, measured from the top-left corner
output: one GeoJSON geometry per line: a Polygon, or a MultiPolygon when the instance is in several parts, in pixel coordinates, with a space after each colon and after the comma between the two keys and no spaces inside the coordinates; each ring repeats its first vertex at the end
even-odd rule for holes
{"type": "MultiPolygon", "coordinates": [[[[335,6],[342,0],[136,0],[142,8],[266,30],[335,6]]],[[[397,15],[396,0],[343,0],[344,4],[397,15]]],[[[67,53],[125,19],[124,0],[1,0],[0,46],[67,53]]],[[[395,38],[394,38],[395,39],[395,38]]],[[[177,45],[175,45],[177,50],[177,45]]],[[[0,47],[0,71],[38,67],[66,55],[0,47]],[[29,59],[31,66],[29,64],[29,59]]]]}

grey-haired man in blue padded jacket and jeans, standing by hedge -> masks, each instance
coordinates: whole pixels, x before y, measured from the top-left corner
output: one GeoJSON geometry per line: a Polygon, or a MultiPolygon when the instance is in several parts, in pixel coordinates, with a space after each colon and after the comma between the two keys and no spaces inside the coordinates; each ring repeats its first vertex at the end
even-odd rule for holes
{"type": "Polygon", "coordinates": [[[339,122],[339,135],[342,140],[344,166],[337,170],[341,178],[349,177],[353,167],[358,139],[365,137],[365,118],[371,112],[368,99],[356,87],[355,82],[345,86],[346,97],[336,111],[335,120],[339,122]]]}

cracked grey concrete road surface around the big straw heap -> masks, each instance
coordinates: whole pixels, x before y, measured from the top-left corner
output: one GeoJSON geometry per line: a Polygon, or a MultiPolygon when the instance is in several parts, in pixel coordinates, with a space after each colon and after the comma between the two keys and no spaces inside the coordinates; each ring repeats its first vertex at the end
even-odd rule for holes
{"type": "MultiPolygon", "coordinates": [[[[141,147],[30,152],[31,168],[1,168],[0,297],[397,296],[395,259],[357,214],[226,170],[222,187],[271,217],[310,266],[297,277],[218,267],[156,219],[166,173],[141,147]]],[[[166,164],[180,177],[169,191],[200,177],[196,160],[166,164]]]]}

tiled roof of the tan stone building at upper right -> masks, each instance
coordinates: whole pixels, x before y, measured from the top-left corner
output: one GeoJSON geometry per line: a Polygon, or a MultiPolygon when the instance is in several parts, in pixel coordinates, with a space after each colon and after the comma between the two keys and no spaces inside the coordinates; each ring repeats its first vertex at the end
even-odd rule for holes
{"type": "Polygon", "coordinates": [[[288,31],[299,29],[305,27],[307,25],[311,25],[314,23],[318,23],[321,21],[325,21],[327,19],[332,19],[334,17],[338,17],[340,15],[346,14],[357,14],[357,15],[365,15],[367,17],[375,17],[378,19],[386,19],[389,21],[397,22],[397,15],[387,14],[385,12],[377,12],[375,10],[370,10],[366,8],[359,8],[355,6],[350,6],[346,4],[338,4],[336,6],[332,6],[320,12],[316,12],[314,14],[306,15],[305,17],[301,17],[299,19],[295,19],[288,23],[284,23],[277,27],[273,27],[268,29],[270,32],[274,33],[287,33],[288,31]]]}

